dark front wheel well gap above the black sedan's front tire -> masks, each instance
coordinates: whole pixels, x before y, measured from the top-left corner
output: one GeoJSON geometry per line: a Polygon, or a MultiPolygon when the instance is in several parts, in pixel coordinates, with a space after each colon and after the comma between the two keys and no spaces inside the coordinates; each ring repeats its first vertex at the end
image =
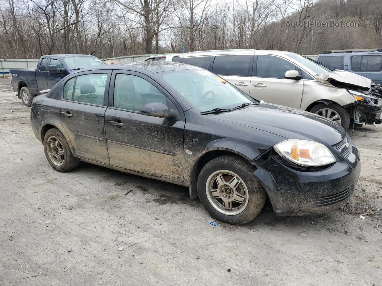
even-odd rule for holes
{"type": "MultiPolygon", "coordinates": [[[[191,176],[190,176],[190,185],[189,185],[189,192],[190,192],[190,198],[194,199],[197,198],[197,178],[199,177],[200,171],[203,169],[204,165],[206,165],[209,161],[223,156],[223,155],[235,155],[240,156],[234,152],[226,151],[226,150],[213,150],[209,151],[206,154],[203,154],[198,161],[194,164],[193,169],[191,170],[191,176]]],[[[240,156],[243,159],[245,159],[243,156],[240,156]]]]}

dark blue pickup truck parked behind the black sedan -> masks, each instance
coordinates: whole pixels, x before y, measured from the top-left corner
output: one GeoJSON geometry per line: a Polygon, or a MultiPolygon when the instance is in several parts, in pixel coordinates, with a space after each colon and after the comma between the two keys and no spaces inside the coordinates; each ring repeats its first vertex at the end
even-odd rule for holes
{"type": "Polygon", "coordinates": [[[18,98],[25,106],[31,106],[34,96],[54,87],[71,72],[103,65],[105,63],[95,56],[46,55],[40,58],[36,69],[10,69],[9,76],[18,98]]]}

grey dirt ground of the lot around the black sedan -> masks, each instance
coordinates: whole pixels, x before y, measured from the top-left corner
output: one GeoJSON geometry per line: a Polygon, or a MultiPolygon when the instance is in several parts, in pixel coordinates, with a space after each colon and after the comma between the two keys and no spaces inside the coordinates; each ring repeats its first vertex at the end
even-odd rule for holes
{"type": "Polygon", "coordinates": [[[342,209],[213,226],[188,188],[55,172],[9,88],[0,79],[1,286],[382,285],[382,213],[358,217],[382,208],[381,125],[349,130],[362,172],[342,209]]]}

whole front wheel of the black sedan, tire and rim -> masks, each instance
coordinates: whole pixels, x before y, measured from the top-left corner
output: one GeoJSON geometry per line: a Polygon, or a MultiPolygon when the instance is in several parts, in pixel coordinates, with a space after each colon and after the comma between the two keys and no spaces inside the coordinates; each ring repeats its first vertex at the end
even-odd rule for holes
{"type": "Polygon", "coordinates": [[[253,220],[266,199],[254,171],[238,156],[220,156],[208,162],[197,181],[199,199],[207,212],[221,222],[235,225],[253,220]]]}

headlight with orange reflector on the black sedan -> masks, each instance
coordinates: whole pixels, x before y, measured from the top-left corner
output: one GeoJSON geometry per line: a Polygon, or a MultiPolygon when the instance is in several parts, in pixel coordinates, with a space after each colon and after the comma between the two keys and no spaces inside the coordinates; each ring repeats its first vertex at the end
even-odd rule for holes
{"type": "Polygon", "coordinates": [[[302,166],[324,166],[336,161],[321,143],[308,140],[285,140],[274,146],[280,156],[302,166]]]}

